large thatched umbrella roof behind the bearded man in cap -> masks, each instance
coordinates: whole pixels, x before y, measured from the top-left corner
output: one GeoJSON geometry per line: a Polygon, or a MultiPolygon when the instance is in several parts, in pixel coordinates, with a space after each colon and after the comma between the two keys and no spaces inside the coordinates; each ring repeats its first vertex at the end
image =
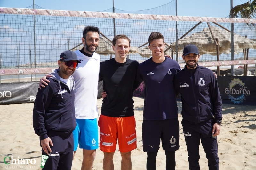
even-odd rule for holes
{"type": "MultiPolygon", "coordinates": [[[[231,35],[230,32],[219,27],[211,26],[212,33],[219,40],[219,53],[230,53],[231,35]]],[[[178,41],[178,50],[183,53],[184,46],[194,44],[198,47],[200,54],[217,55],[216,44],[212,38],[209,28],[204,28],[200,32],[196,32],[191,36],[187,36],[178,41]]],[[[171,44],[176,47],[176,42],[171,44]]],[[[241,35],[234,34],[234,51],[236,54],[243,52],[245,48],[256,49],[256,42],[241,35]]]]}

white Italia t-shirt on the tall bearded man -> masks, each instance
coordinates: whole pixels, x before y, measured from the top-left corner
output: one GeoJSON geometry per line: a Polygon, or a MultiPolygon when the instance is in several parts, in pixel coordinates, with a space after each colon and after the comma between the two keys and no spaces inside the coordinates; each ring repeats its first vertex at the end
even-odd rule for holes
{"type": "Polygon", "coordinates": [[[73,73],[75,80],[75,116],[76,119],[95,119],[99,116],[97,108],[100,55],[93,53],[88,57],[76,50],[81,63],[73,73]]]}

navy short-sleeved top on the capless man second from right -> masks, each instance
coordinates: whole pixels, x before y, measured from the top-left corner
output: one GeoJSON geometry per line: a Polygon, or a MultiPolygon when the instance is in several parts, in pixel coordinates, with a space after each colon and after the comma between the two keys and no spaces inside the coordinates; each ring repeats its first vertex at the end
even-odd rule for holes
{"type": "Polygon", "coordinates": [[[137,69],[137,81],[145,83],[144,120],[178,117],[173,78],[180,71],[177,61],[166,58],[162,63],[148,59],[137,69]]]}

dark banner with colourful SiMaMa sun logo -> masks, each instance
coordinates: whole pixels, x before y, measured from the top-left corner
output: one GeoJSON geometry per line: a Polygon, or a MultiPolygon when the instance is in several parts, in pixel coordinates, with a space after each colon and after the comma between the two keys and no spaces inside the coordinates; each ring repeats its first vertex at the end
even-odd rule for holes
{"type": "Polygon", "coordinates": [[[256,105],[255,76],[218,76],[222,103],[256,105]]]}

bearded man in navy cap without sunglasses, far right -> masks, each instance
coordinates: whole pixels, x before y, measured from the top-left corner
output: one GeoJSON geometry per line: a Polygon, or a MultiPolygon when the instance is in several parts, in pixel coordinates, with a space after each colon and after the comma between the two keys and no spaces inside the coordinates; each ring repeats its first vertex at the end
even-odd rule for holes
{"type": "Polygon", "coordinates": [[[209,170],[219,169],[217,135],[220,134],[222,101],[217,80],[212,70],[199,66],[200,54],[195,45],[183,50],[186,66],[174,77],[176,95],[182,102],[183,133],[188,150],[190,170],[200,170],[200,139],[209,170]]]}

